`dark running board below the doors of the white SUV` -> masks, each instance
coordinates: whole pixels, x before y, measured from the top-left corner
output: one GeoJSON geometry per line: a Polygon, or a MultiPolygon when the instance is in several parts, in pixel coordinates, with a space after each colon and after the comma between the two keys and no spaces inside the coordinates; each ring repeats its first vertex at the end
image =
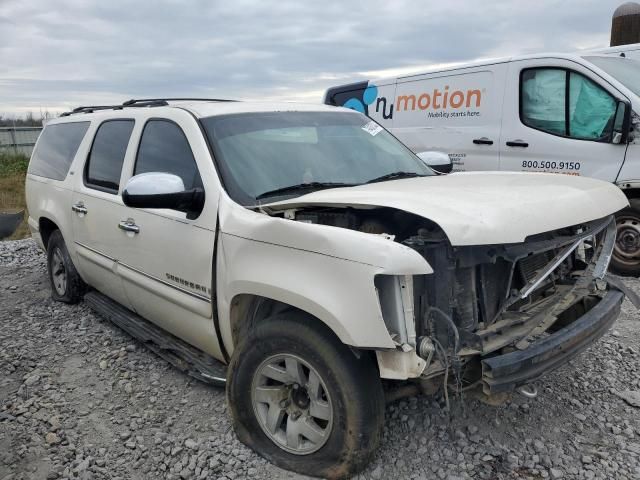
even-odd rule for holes
{"type": "Polygon", "coordinates": [[[87,293],[84,301],[100,316],[142,342],[178,370],[211,385],[223,387],[226,384],[227,367],[212,356],[162,330],[99,292],[87,293]]]}

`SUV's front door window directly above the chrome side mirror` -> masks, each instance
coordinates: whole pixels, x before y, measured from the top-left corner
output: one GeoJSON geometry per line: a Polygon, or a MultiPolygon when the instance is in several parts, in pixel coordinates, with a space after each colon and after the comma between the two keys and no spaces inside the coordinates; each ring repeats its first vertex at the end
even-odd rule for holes
{"type": "Polygon", "coordinates": [[[177,175],[184,188],[202,188],[196,160],[182,129],[169,120],[150,120],[144,127],[133,174],[163,172],[177,175]]]}

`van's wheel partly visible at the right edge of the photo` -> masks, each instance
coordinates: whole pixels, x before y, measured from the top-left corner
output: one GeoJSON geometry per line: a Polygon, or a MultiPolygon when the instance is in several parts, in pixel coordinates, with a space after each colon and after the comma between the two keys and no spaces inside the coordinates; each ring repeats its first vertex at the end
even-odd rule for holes
{"type": "Polygon", "coordinates": [[[616,244],[611,271],[618,275],[640,275],[640,198],[629,199],[629,206],[616,213],[616,244]]]}

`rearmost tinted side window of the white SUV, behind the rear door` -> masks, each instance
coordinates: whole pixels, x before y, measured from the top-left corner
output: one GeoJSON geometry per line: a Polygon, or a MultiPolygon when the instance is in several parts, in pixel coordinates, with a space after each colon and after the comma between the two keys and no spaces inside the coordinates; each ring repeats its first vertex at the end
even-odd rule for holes
{"type": "Polygon", "coordinates": [[[28,173],[64,180],[89,123],[59,123],[45,127],[31,156],[28,173]]]}

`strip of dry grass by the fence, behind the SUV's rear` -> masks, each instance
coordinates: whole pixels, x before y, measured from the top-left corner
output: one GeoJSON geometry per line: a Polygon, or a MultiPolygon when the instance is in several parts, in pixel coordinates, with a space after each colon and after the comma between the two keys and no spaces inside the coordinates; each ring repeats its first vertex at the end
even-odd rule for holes
{"type": "Polygon", "coordinates": [[[24,195],[24,182],[27,176],[29,158],[25,155],[0,153],[0,212],[19,212],[24,210],[24,220],[9,237],[10,240],[30,236],[27,225],[27,204],[24,195]]]}

